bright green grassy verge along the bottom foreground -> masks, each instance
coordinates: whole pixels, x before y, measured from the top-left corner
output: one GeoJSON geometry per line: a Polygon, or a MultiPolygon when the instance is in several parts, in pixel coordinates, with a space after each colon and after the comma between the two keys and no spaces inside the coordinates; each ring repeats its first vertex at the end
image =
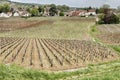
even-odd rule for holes
{"type": "MultiPolygon", "coordinates": [[[[111,71],[120,72],[119,60],[115,62],[108,62],[106,64],[89,65],[86,68],[82,68],[73,72],[45,72],[33,69],[25,69],[15,65],[0,65],[0,80],[86,80],[88,78],[94,79],[98,75],[104,76],[107,74],[107,72],[109,73],[111,71]]],[[[115,74],[108,74],[108,76],[114,75],[113,77],[116,78],[115,74]]],[[[117,77],[120,78],[120,75],[117,77]]],[[[99,77],[97,79],[102,78],[99,77]]]]}

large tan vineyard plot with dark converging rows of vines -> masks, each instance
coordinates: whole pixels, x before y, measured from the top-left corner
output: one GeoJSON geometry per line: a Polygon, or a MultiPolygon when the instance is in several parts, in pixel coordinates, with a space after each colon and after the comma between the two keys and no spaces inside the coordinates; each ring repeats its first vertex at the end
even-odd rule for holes
{"type": "Polygon", "coordinates": [[[44,70],[63,70],[118,59],[100,44],[79,40],[0,38],[0,61],[44,70]]]}

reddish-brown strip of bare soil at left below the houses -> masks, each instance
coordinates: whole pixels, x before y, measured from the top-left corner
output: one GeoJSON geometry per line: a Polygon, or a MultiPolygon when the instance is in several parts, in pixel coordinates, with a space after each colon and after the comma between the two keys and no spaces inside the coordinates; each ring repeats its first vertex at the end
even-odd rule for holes
{"type": "Polygon", "coordinates": [[[0,20],[0,32],[53,24],[49,20],[0,20]]]}

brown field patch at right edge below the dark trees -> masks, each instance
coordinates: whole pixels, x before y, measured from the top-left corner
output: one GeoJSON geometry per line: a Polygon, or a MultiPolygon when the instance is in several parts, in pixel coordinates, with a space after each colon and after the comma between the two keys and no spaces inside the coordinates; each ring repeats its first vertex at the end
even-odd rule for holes
{"type": "Polygon", "coordinates": [[[100,34],[97,35],[99,39],[110,45],[120,45],[120,25],[109,24],[97,26],[100,34]]]}

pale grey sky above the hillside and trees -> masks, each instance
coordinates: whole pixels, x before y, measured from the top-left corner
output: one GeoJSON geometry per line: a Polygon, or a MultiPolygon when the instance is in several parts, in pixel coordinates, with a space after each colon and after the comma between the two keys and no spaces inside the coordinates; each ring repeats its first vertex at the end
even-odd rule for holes
{"type": "Polygon", "coordinates": [[[68,5],[71,7],[100,7],[103,4],[109,4],[112,8],[120,6],[120,0],[11,0],[23,3],[39,3],[39,4],[57,4],[68,5]]]}

